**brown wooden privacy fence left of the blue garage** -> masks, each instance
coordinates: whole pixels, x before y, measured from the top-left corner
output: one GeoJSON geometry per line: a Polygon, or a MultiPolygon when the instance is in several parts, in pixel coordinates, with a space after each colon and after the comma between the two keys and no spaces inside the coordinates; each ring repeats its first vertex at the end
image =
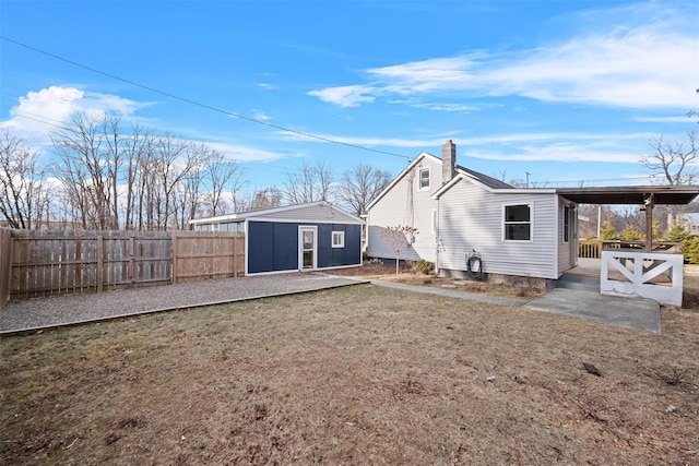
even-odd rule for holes
{"type": "Polygon", "coordinates": [[[0,306],[245,275],[241,232],[0,229],[0,306]]]}

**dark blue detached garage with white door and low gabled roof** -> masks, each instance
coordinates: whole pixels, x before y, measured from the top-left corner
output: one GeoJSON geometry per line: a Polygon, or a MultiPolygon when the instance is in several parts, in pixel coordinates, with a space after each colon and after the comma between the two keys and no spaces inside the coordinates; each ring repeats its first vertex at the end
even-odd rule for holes
{"type": "Polygon", "coordinates": [[[362,265],[364,222],[328,202],[198,218],[198,231],[242,231],[246,275],[362,265]]]}

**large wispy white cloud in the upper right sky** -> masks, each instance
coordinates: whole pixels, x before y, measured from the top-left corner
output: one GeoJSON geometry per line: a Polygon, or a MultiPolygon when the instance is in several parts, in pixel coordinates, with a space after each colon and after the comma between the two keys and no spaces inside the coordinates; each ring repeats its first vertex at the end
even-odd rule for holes
{"type": "MultiPolygon", "coordinates": [[[[564,40],[503,53],[475,51],[382,68],[371,85],[309,92],[356,107],[384,95],[522,96],[623,108],[696,105],[699,34],[687,12],[659,3],[587,11],[564,40]]],[[[694,17],[696,20],[696,17],[694,17]]],[[[449,110],[449,108],[445,108],[449,110]]]]}

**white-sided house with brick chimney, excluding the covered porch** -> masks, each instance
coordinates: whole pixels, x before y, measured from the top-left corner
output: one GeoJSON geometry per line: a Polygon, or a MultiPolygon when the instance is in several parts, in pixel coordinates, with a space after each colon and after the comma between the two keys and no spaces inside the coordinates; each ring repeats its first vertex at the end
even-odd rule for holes
{"type": "Polygon", "coordinates": [[[576,204],[555,189],[516,189],[442,158],[422,153],[368,206],[367,252],[393,259],[380,237],[389,226],[418,229],[402,260],[434,262],[441,275],[467,276],[470,254],[479,272],[557,279],[577,263],[576,204]]]}

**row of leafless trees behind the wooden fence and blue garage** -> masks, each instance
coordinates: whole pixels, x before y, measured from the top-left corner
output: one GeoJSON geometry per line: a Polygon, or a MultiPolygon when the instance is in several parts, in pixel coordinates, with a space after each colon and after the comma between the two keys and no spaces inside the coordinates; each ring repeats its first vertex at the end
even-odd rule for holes
{"type": "Polygon", "coordinates": [[[390,174],[357,165],[335,179],[318,159],[283,187],[246,190],[244,167],[205,144],[75,113],[51,134],[54,159],[0,131],[0,219],[11,228],[168,230],[192,218],[317,201],[360,215],[390,174]]]}

